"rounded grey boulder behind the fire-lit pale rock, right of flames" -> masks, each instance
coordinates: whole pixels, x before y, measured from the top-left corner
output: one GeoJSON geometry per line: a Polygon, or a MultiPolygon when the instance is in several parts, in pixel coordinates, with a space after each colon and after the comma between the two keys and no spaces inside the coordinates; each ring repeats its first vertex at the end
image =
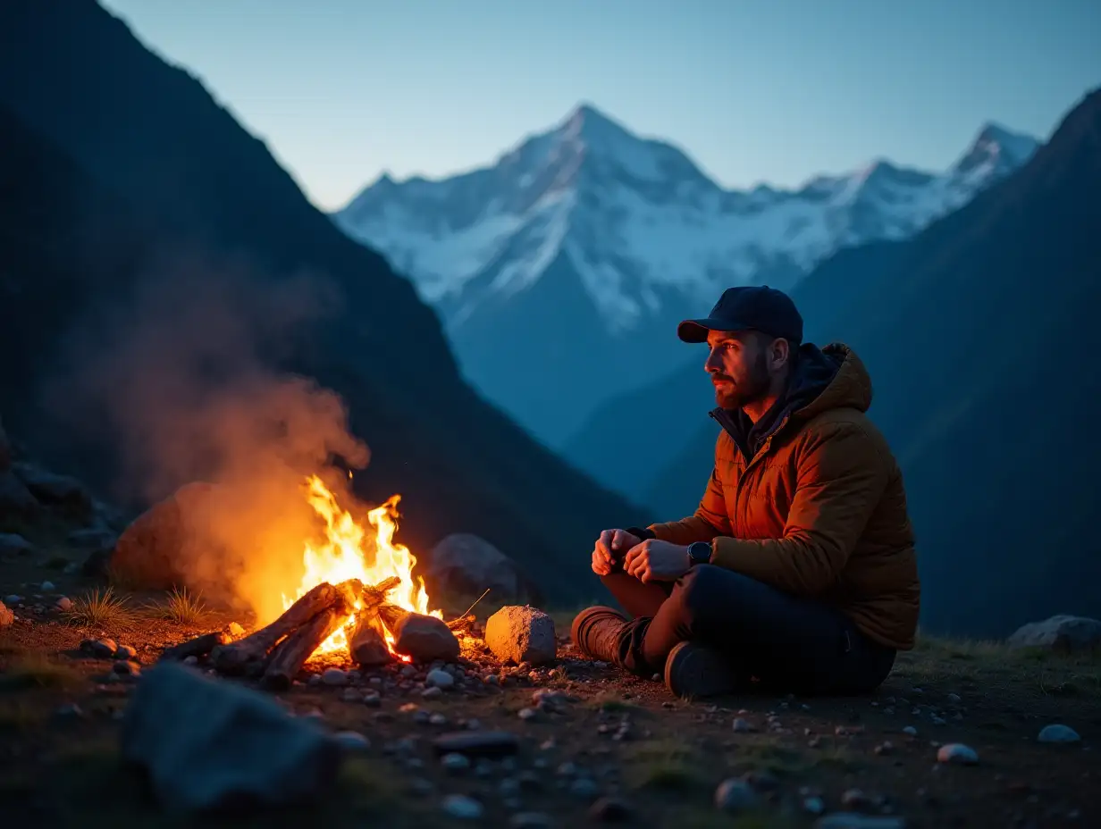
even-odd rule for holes
{"type": "Polygon", "coordinates": [[[449,535],[433,548],[428,578],[437,590],[453,595],[478,596],[490,588],[493,596],[511,601],[530,598],[516,563],[469,533],[449,535]]]}

